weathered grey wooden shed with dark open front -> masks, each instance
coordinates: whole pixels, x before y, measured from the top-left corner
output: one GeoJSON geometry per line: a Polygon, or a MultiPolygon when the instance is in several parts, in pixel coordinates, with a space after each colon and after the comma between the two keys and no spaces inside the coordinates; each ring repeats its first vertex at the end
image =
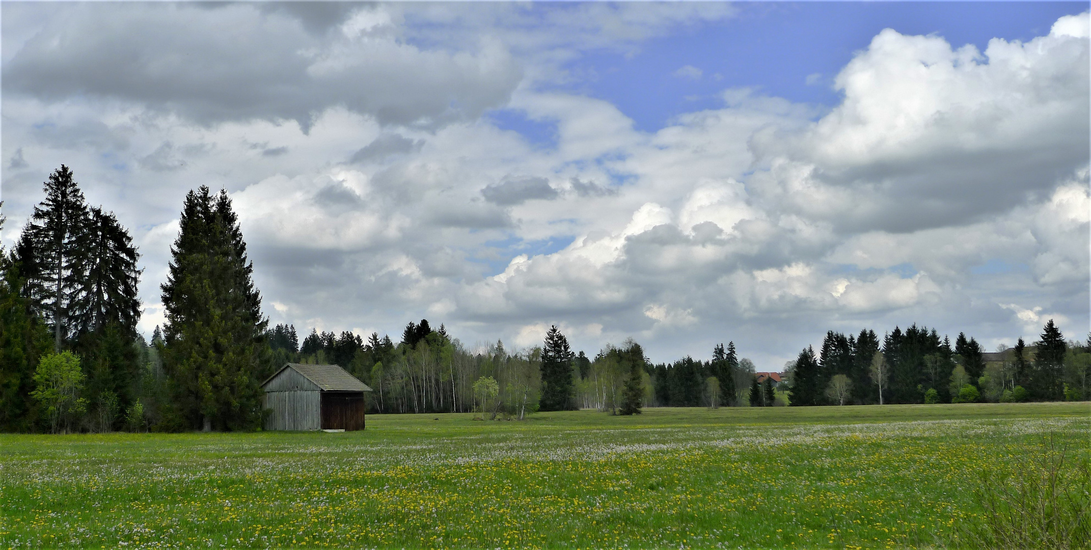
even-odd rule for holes
{"type": "Polygon", "coordinates": [[[371,388],[336,364],[288,363],[262,384],[266,430],[362,430],[371,388]]]}

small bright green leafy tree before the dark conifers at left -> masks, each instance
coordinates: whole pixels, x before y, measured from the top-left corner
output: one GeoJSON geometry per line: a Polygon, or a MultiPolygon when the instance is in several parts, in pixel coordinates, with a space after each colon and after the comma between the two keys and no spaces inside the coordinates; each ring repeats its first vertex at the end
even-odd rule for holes
{"type": "Polygon", "coordinates": [[[83,390],[80,356],[61,351],[41,358],[34,373],[37,388],[31,396],[46,407],[53,433],[68,432],[72,422],[87,410],[87,399],[80,397],[83,390]]]}

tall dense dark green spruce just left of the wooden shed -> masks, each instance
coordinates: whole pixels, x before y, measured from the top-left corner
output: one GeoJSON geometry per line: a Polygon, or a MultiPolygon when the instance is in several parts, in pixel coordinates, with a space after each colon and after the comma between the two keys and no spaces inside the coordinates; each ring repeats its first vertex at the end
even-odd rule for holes
{"type": "Polygon", "coordinates": [[[256,428],[257,384],[272,370],[267,320],[227,192],[190,191],[179,226],[161,285],[164,366],[175,384],[176,418],[183,428],[256,428]]]}

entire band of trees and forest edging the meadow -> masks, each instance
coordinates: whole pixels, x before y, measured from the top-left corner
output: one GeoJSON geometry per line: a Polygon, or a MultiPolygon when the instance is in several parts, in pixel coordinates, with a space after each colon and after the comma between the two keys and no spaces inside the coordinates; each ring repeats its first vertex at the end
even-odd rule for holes
{"type": "MultiPolygon", "coordinates": [[[[0,217],[0,227],[3,219],[0,217]]],[[[13,250],[0,251],[0,430],[254,430],[260,384],[288,362],[339,364],[369,384],[375,412],[1082,400],[1091,396],[1091,336],[1064,338],[1051,320],[1038,342],[986,352],[959,334],[895,327],[880,339],[826,334],[756,375],[729,342],[710,360],[651,363],[639,344],[574,352],[553,326],[541,346],[497,340],[468,349],[440,324],[410,322],[398,342],[268,325],[237,215],[225,191],[190,191],[160,287],[166,324],[136,331],[140,254],[112,213],[88,206],[61,166],[13,250]]]]}

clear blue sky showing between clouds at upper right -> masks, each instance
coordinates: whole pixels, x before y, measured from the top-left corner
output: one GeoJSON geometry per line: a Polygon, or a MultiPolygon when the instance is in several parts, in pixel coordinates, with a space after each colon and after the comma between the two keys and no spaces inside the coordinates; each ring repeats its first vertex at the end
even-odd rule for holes
{"type": "MultiPolygon", "coordinates": [[[[834,76],[884,28],[938,35],[951,45],[1030,40],[1047,34],[1063,15],[1088,2],[740,2],[726,21],[684,25],[627,51],[592,50],[567,64],[571,82],[560,89],[606,99],[654,132],[678,115],[723,106],[727,87],[830,108],[842,96],[834,76]],[[699,76],[676,72],[700,70],[699,76]],[[808,80],[810,77],[810,80],[808,80]],[[639,91],[638,93],[634,91],[639,91]]],[[[549,10],[550,5],[539,7],[549,10]]],[[[542,146],[555,142],[555,125],[497,110],[497,125],[542,146]]]]}

